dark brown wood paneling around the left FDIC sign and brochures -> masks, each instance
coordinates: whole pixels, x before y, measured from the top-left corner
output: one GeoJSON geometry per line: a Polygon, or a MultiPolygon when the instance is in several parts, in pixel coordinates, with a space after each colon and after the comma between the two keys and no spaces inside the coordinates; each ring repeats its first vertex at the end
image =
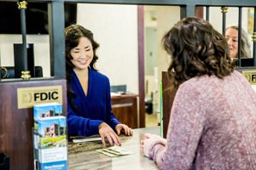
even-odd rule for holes
{"type": "Polygon", "coordinates": [[[33,169],[33,111],[18,109],[17,88],[61,85],[67,113],[66,80],[0,82],[0,152],[10,158],[10,170],[33,169]]]}

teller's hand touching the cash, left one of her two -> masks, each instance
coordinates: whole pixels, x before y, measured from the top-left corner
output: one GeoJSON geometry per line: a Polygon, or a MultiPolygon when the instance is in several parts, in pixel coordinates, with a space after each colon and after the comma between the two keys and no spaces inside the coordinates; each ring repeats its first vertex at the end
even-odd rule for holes
{"type": "Polygon", "coordinates": [[[113,129],[108,126],[106,122],[102,122],[99,126],[99,134],[102,138],[102,144],[106,146],[105,139],[108,139],[108,142],[110,145],[116,144],[121,145],[121,141],[119,139],[119,136],[114,133],[113,129]]]}

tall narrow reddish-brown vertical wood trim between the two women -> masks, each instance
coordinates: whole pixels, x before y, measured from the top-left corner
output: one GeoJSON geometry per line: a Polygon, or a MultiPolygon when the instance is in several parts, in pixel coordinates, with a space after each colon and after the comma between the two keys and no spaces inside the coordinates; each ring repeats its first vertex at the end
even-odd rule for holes
{"type": "Polygon", "coordinates": [[[145,89],[144,89],[144,8],[137,6],[138,30],[138,84],[139,84],[139,127],[145,127],[145,89]]]}

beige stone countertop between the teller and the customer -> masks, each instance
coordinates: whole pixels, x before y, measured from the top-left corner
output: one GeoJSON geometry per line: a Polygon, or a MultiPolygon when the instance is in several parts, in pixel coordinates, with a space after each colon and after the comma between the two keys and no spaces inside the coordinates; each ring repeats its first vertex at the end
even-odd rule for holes
{"type": "Polygon", "coordinates": [[[140,170],[140,169],[159,169],[154,161],[144,156],[140,149],[140,139],[143,133],[160,134],[160,127],[137,128],[134,129],[133,136],[120,136],[122,147],[132,151],[128,156],[109,157],[95,150],[102,148],[102,142],[86,142],[81,144],[68,144],[68,169],[69,170],[140,170]]]}

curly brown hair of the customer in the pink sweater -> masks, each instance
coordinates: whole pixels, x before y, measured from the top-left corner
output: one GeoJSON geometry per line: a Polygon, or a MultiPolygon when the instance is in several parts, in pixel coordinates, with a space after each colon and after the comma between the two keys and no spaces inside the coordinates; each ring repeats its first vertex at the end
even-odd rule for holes
{"type": "Polygon", "coordinates": [[[175,87],[192,77],[223,78],[234,71],[225,37],[207,20],[184,18],[166,33],[162,42],[172,57],[168,73],[175,87]]]}

